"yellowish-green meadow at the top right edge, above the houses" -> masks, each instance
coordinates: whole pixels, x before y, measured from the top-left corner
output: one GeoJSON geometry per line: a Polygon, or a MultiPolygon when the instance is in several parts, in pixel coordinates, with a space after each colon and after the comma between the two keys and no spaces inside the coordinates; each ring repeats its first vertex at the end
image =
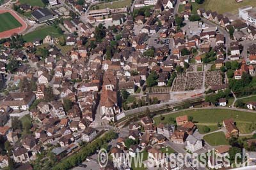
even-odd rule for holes
{"type": "Polygon", "coordinates": [[[204,8],[205,10],[217,11],[218,13],[238,13],[238,8],[243,6],[256,6],[253,0],[244,0],[241,3],[236,3],[235,0],[205,0],[203,4],[191,3],[193,6],[192,13],[196,13],[198,8],[204,8]]]}

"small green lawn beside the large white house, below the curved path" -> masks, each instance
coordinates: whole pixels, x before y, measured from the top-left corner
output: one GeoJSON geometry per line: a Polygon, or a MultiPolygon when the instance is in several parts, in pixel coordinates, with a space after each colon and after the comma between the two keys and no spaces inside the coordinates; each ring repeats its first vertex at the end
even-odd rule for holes
{"type": "Polygon", "coordinates": [[[216,132],[204,136],[204,140],[211,146],[228,145],[224,132],[216,132]]]}

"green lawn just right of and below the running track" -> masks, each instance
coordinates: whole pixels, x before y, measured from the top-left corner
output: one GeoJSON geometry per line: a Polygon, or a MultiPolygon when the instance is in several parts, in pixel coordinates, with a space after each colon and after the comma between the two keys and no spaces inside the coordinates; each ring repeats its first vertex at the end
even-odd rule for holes
{"type": "Polygon", "coordinates": [[[59,37],[62,34],[58,32],[56,27],[47,26],[47,27],[40,27],[33,32],[29,32],[28,34],[25,34],[23,38],[25,41],[29,42],[29,41],[35,40],[36,38],[44,39],[47,35],[50,35],[53,37],[59,37]]]}

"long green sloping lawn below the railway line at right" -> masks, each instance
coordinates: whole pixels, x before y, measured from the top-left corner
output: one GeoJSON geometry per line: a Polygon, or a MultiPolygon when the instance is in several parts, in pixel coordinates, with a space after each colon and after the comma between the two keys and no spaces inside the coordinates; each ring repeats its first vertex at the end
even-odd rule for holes
{"type": "Polygon", "coordinates": [[[220,122],[222,124],[224,119],[233,118],[237,123],[237,127],[242,134],[247,134],[255,130],[255,119],[256,114],[246,111],[236,111],[236,110],[225,110],[225,109],[214,109],[214,110],[189,110],[189,111],[179,111],[170,115],[164,115],[164,120],[160,117],[155,117],[154,121],[156,124],[160,122],[173,123],[170,122],[172,118],[179,117],[181,115],[188,115],[193,117],[193,122],[198,125],[198,131],[202,133],[202,127],[206,125],[210,127],[211,131],[216,131],[218,129],[217,124],[220,122]],[[172,117],[172,118],[171,118],[172,117]],[[250,126],[253,124],[252,128],[250,126]]]}

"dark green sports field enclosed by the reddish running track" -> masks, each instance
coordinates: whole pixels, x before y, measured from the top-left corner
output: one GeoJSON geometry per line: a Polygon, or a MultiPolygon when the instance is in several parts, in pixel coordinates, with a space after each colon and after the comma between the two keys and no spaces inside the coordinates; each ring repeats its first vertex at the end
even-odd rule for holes
{"type": "Polygon", "coordinates": [[[15,29],[22,26],[19,21],[17,21],[11,13],[1,13],[0,14],[0,32],[8,31],[10,29],[15,29]]]}

